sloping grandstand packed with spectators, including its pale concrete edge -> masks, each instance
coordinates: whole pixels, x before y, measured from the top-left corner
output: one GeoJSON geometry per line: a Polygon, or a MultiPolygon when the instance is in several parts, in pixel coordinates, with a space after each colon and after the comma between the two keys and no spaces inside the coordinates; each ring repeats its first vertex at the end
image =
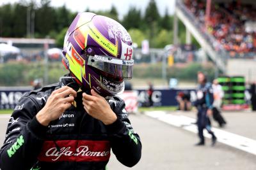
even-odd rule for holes
{"type": "Polygon", "coordinates": [[[176,44],[177,18],[186,26],[186,43],[192,34],[223,73],[255,81],[256,1],[177,0],[176,44]]]}

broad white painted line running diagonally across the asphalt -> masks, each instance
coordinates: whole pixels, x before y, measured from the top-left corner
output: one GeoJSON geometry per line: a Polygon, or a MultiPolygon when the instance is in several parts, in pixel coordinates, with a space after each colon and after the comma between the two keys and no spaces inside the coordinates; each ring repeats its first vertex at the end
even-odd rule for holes
{"type": "MultiPolygon", "coordinates": [[[[196,122],[195,118],[185,117],[183,115],[172,115],[170,113],[167,114],[164,111],[146,111],[145,115],[148,117],[156,118],[175,127],[180,127],[186,131],[194,132],[196,134],[198,132],[197,126],[192,124],[193,122],[196,122]]],[[[218,142],[256,155],[255,140],[214,127],[212,127],[212,131],[214,131],[214,134],[217,136],[218,142]]],[[[204,131],[204,136],[206,138],[211,138],[211,135],[208,134],[206,130],[204,131]]]]}

